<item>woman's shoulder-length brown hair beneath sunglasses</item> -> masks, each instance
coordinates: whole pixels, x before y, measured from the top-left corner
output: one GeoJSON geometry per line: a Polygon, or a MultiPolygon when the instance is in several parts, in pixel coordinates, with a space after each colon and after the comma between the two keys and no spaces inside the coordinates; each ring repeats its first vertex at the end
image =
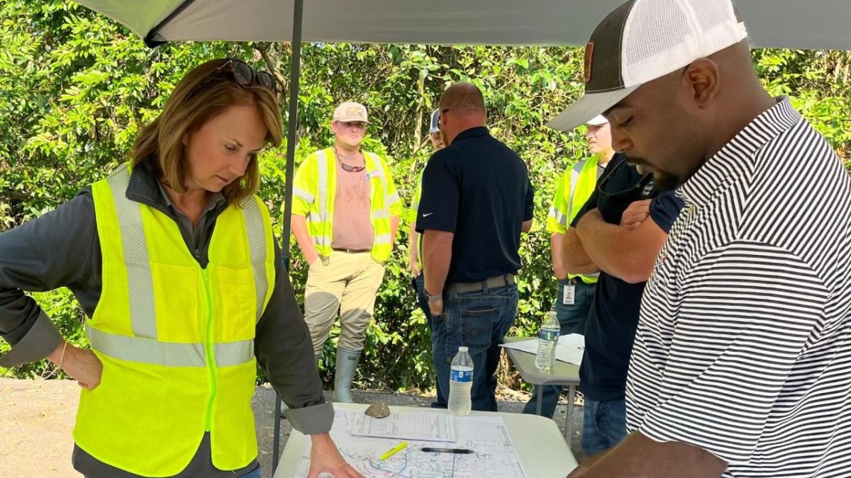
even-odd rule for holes
{"type": "MultiPolygon", "coordinates": [[[[198,65],[177,83],[163,112],[151,124],[141,128],[133,145],[133,165],[147,162],[162,174],[174,191],[186,192],[188,163],[183,138],[197,131],[209,119],[231,106],[254,105],[266,123],[266,142],[281,144],[281,115],[275,94],[259,85],[239,86],[230,75],[220,71],[228,59],[210,60],[198,65]]],[[[257,192],[260,168],[257,157],[248,162],[245,174],[221,191],[228,204],[242,201],[257,192]]]]}

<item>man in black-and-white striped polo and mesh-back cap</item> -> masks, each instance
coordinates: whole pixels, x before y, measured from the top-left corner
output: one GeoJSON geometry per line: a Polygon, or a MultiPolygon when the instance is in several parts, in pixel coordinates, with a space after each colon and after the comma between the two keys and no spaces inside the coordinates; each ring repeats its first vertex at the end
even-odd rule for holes
{"type": "Polygon", "coordinates": [[[686,202],[644,292],[631,435],[576,476],[848,475],[851,179],[745,38],[728,0],[625,3],[557,118],[605,111],[686,202]]]}

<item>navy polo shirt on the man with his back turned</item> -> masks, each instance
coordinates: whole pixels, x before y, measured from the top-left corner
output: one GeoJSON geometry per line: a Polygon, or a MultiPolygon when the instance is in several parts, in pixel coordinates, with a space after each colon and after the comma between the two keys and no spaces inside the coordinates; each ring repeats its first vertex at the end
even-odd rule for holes
{"type": "Polygon", "coordinates": [[[517,273],[532,199],[526,164],[488,128],[467,129],[434,153],[423,173],[417,231],[454,233],[446,283],[517,273]]]}

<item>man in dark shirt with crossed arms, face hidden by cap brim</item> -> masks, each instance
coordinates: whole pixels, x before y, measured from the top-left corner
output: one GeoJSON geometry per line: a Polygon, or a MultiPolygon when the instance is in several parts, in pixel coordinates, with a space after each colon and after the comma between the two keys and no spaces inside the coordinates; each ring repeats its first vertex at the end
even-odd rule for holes
{"type": "Polygon", "coordinates": [[[682,207],[672,192],[657,194],[652,175],[639,173],[618,154],[565,235],[571,270],[601,271],[580,367],[586,456],[614,447],[626,435],[626,372],[644,282],[682,207]]]}

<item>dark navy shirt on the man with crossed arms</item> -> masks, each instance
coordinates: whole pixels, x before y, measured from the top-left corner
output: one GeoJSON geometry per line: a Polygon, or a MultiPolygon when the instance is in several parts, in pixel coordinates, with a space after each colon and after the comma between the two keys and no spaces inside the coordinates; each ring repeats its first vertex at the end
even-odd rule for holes
{"type": "MultiPolygon", "coordinates": [[[[656,191],[653,180],[626,164],[621,155],[614,156],[608,163],[598,185],[574,219],[574,226],[583,214],[594,208],[600,209],[609,224],[620,224],[620,216],[632,202],[652,197],[650,218],[667,232],[683,208],[682,199],[671,191],[656,191]]],[[[580,367],[582,391],[591,400],[624,398],[643,292],[644,282],[630,284],[600,272],[597,292],[585,322],[585,355],[580,367]]]]}

